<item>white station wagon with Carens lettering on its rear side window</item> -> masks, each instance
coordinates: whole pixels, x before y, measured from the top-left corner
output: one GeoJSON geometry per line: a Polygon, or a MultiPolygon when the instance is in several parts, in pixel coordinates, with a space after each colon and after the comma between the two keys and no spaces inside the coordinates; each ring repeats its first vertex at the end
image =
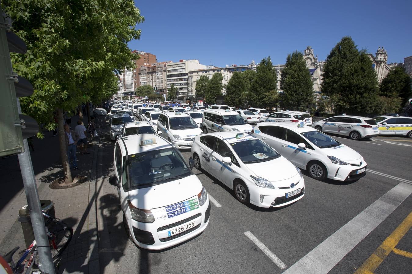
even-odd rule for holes
{"type": "Polygon", "coordinates": [[[352,140],[369,139],[379,135],[373,118],[361,116],[333,116],[312,124],[318,131],[349,136],[352,140]]]}

